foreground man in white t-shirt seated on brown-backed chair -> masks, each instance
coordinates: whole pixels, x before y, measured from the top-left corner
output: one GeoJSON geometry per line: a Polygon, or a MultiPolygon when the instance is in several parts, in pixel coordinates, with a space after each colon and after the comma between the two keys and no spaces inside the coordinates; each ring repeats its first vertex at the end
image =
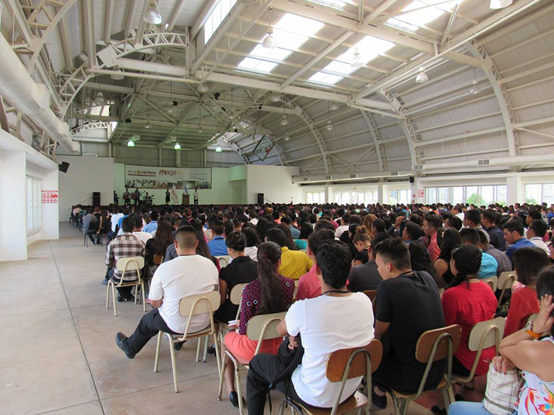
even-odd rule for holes
{"type": "MultiPolygon", "coordinates": [[[[373,307],[364,293],[350,293],[346,281],[352,255],[341,241],[327,241],[316,254],[316,273],[321,280],[320,297],[297,301],[290,306],[277,327],[289,335],[290,347],[297,347],[301,335],[305,350],[302,363],[292,377],[276,384],[277,389],[298,403],[329,408],[339,394],[340,382],[325,375],[332,352],[364,347],[374,337],[373,307]]],[[[263,414],[269,385],[285,369],[283,362],[270,354],[258,354],[250,361],[247,377],[249,414],[263,414]]],[[[361,376],[346,381],[341,402],[355,393],[361,376]]]]}

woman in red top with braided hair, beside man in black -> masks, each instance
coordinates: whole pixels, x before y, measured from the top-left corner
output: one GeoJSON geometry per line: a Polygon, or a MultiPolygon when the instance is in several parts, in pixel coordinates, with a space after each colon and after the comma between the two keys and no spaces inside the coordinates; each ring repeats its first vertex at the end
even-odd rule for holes
{"type": "MultiPolygon", "coordinates": [[[[470,331],[475,324],[492,320],[497,311],[497,297],[494,296],[488,284],[477,278],[479,267],[481,267],[479,248],[469,243],[456,246],[452,250],[450,260],[454,279],[441,299],[445,312],[445,325],[458,324],[462,328],[460,346],[452,359],[452,373],[464,377],[470,375],[476,356],[476,352],[470,351],[468,346],[470,331]]],[[[483,349],[475,376],[487,374],[488,362],[496,354],[494,346],[483,349]]],[[[442,413],[438,407],[431,410],[437,414],[442,413]]]]}

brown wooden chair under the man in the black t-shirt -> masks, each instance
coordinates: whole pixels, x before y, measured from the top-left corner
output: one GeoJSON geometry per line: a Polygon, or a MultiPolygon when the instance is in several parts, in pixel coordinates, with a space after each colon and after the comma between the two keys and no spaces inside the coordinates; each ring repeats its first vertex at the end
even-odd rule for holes
{"type": "Polygon", "coordinates": [[[426,366],[418,387],[418,391],[415,394],[404,395],[386,385],[376,382],[380,388],[385,389],[385,391],[388,392],[388,394],[390,394],[393,398],[396,415],[405,415],[408,410],[409,403],[412,400],[416,400],[423,394],[432,390],[442,391],[443,399],[445,400],[445,407],[447,408],[448,413],[449,404],[454,402],[454,392],[452,391],[452,356],[454,356],[454,353],[456,353],[456,350],[458,349],[461,337],[462,329],[457,324],[443,327],[442,329],[426,331],[420,335],[418,344],[415,347],[415,358],[419,362],[425,363],[426,366]],[[433,337],[434,341],[432,343],[431,350],[428,351],[429,342],[427,341],[427,338],[433,337]],[[443,345],[441,349],[439,349],[441,346],[440,343],[443,341],[447,344],[446,351],[444,350],[443,345]],[[427,383],[427,378],[429,377],[429,372],[431,371],[433,363],[436,360],[443,360],[444,358],[447,359],[447,373],[445,374],[445,378],[435,389],[425,390],[425,383],[427,383]]]}

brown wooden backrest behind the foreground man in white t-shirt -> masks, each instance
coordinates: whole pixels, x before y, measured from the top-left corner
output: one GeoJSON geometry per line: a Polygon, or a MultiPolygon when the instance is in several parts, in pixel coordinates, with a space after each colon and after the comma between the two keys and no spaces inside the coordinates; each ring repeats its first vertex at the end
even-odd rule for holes
{"type": "MultiPolygon", "coordinates": [[[[340,382],[342,380],[344,372],[348,368],[350,356],[360,349],[365,349],[369,353],[371,373],[377,370],[383,358],[383,344],[379,342],[379,340],[373,339],[364,347],[341,349],[331,353],[327,361],[327,369],[325,370],[325,374],[330,382],[340,382]]],[[[366,374],[366,353],[357,353],[356,356],[352,358],[347,379],[366,376],[366,374]]]]}

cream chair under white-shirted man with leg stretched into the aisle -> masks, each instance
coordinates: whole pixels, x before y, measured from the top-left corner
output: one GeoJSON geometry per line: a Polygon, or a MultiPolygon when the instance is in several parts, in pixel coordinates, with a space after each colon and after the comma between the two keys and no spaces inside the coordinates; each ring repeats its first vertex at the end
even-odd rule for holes
{"type": "Polygon", "coordinates": [[[175,387],[175,393],[179,393],[179,387],[177,386],[177,364],[175,360],[175,349],[173,348],[173,344],[184,342],[189,339],[198,339],[198,344],[196,348],[196,361],[199,362],[200,360],[200,347],[202,344],[202,338],[206,338],[206,343],[204,347],[204,362],[206,362],[207,358],[207,350],[208,350],[208,340],[210,336],[213,336],[213,342],[215,344],[215,359],[217,360],[217,371],[221,372],[221,360],[220,360],[220,349],[219,349],[219,343],[217,342],[217,330],[215,329],[215,323],[213,321],[213,312],[219,308],[221,302],[220,293],[217,291],[212,291],[208,294],[200,294],[200,295],[190,295],[189,297],[181,298],[181,302],[179,304],[179,313],[183,315],[184,317],[188,317],[188,321],[186,323],[185,332],[183,333],[182,337],[179,337],[177,335],[177,338],[174,338],[171,333],[164,333],[163,331],[159,331],[158,333],[158,340],[156,343],[156,357],[154,358],[154,373],[158,371],[158,362],[159,362],[159,356],[160,356],[160,349],[161,349],[161,338],[165,334],[168,337],[169,340],[169,349],[170,349],[170,355],[171,355],[171,369],[173,372],[173,385],[175,387]],[[188,307],[188,304],[192,303],[190,307],[188,307]],[[209,313],[210,315],[210,324],[206,329],[202,329],[200,331],[195,331],[194,333],[189,333],[190,329],[190,320],[191,317],[194,315],[200,315],[200,314],[206,314],[209,313]]]}

